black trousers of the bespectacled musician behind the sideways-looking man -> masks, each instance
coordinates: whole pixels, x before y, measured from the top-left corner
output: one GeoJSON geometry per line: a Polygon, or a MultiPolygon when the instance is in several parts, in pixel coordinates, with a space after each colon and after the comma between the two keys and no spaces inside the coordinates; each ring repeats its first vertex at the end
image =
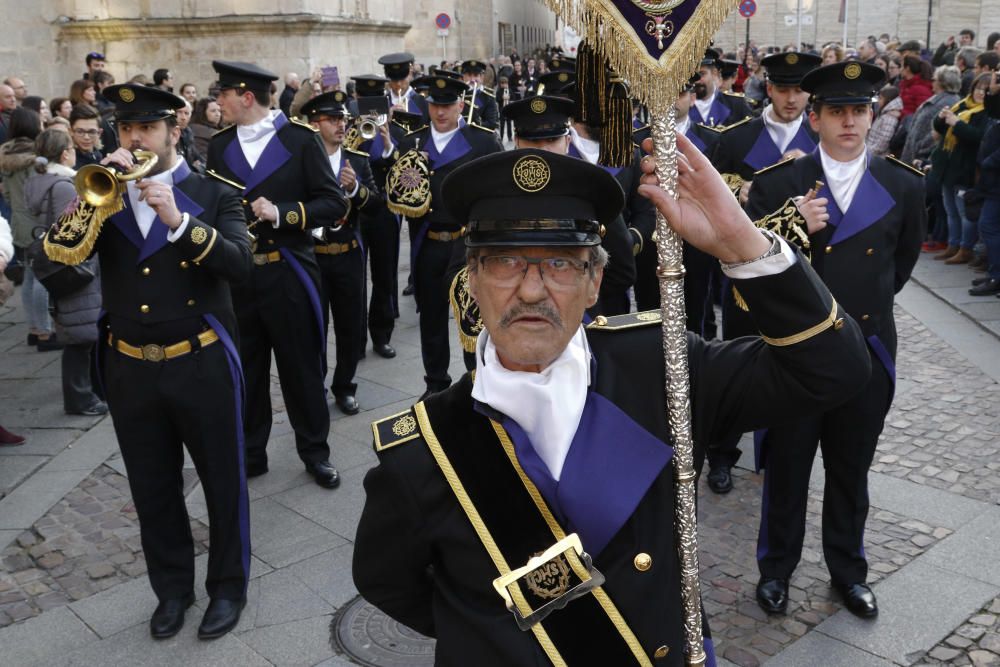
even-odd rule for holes
{"type": "Polygon", "coordinates": [[[337,343],[330,389],[334,396],[354,396],[354,373],[365,339],[365,255],[361,248],[351,248],[338,255],[317,253],[316,261],[323,281],[323,326],[329,330],[332,315],[337,343]]]}

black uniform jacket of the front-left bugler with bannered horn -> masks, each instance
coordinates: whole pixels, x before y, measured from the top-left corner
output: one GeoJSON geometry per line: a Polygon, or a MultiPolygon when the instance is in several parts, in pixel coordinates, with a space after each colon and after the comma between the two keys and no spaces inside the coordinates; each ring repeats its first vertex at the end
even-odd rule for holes
{"type": "Polygon", "coordinates": [[[174,343],[200,331],[204,314],[235,335],[229,283],[245,280],[251,267],[239,195],[188,175],[174,189],[178,209],[189,216],[174,243],[159,219],[143,239],[124,199],[126,209],[105,221],[95,245],[103,307],[115,335],[132,344],[174,343]]]}

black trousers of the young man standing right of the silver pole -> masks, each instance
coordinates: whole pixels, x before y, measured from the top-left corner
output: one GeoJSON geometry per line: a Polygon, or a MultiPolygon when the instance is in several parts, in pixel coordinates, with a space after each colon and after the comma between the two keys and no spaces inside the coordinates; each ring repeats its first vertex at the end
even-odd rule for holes
{"type": "Polygon", "coordinates": [[[893,385],[878,358],[872,377],[847,403],[818,417],[768,429],[764,440],[764,495],[757,565],[762,577],[791,577],[802,555],[809,473],[817,444],[823,451],[823,555],[835,584],[868,576],[864,545],[868,517],[868,468],[893,385]]]}

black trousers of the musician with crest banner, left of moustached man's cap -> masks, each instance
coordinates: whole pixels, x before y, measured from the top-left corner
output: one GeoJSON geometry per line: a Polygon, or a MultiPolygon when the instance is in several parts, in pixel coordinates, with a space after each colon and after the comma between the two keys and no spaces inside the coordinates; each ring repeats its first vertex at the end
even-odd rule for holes
{"type": "MultiPolygon", "coordinates": [[[[412,243],[420,229],[410,225],[412,243]]],[[[424,238],[413,266],[414,296],[420,311],[420,353],[424,362],[424,381],[433,391],[446,389],[451,384],[448,366],[451,351],[448,341],[448,290],[451,287],[449,266],[455,246],[461,241],[434,241],[424,238]]]]}

